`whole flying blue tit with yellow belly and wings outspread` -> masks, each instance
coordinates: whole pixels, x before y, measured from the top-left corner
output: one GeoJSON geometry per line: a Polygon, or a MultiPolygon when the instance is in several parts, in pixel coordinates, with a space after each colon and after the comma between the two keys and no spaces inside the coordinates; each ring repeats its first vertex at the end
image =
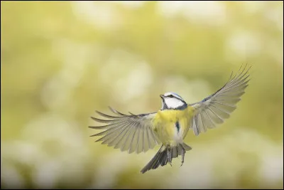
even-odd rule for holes
{"type": "Polygon", "coordinates": [[[184,142],[188,131],[192,130],[198,136],[221,125],[236,110],[236,104],[251,80],[251,66],[248,68],[246,64],[242,67],[236,74],[231,72],[222,88],[200,102],[187,103],[177,93],[170,92],[160,95],[162,107],[156,112],[138,115],[129,112],[126,115],[109,107],[115,114],[113,116],[96,111],[107,120],[91,117],[92,120],[107,125],[89,126],[95,130],[104,130],[90,137],[101,136],[96,142],[102,141],[102,144],[129,154],[147,152],[160,145],[155,156],[141,169],[142,174],[167,164],[172,166],[172,160],[179,156],[182,158],[182,166],[185,153],[192,149],[184,142]]]}

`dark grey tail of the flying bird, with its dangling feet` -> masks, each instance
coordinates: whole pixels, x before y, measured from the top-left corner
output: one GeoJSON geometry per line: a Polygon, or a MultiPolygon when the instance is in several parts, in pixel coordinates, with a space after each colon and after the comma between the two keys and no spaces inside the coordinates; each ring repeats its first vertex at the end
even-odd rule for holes
{"type": "Polygon", "coordinates": [[[153,159],[151,159],[151,161],[141,170],[141,173],[143,174],[150,169],[156,169],[159,166],[163,167],[168,164],[168,162],[171,163],[172,159],[178,157],[178,155],[182,155],[183,162],[185,152],[190,149],[192,148],[184,142],[182,142],[182,144],[177,144],[175,147],[166,147],[165,145],[162,145],[153,159]]]}

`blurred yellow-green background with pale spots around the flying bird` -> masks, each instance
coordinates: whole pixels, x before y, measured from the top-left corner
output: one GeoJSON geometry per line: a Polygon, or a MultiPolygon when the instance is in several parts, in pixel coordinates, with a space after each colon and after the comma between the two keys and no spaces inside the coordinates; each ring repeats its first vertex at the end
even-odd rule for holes
{"type": "Polygon", "coordinates": [[[1,188],[283,189],[283,1],[1,1],[1,188]],[[187,102],[252,65],[238,109],[141,174],[158,150],[94,142],[94,110],[187,102]]]}

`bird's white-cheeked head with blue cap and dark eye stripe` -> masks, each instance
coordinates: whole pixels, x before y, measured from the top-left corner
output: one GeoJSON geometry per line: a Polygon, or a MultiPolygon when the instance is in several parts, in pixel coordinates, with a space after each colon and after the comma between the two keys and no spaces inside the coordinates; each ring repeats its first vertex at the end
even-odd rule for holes
{"type": "Polygon", "coordinates": [[[183,110],[187,107],[185,100],[177,93],[165,93],[160,97],[162,98],[161,110],[183,110]]]}

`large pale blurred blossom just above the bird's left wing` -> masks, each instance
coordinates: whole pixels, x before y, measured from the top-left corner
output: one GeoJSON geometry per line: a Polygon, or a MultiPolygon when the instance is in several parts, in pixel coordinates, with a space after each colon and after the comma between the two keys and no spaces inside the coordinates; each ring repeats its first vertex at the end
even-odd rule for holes
{"type": "Polygon", "coordinates": [[[102,65],[99,78],[111,88],[114,100],[121,103],[145,94],[153,80],[148,63],[123,50],[111,54],[107,63],[102,65]]]}

